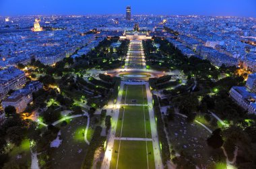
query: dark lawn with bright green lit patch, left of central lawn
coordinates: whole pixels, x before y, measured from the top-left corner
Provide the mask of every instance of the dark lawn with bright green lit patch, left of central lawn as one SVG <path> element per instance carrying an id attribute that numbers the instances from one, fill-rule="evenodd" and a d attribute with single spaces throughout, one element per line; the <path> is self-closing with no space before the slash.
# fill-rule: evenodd
<path id="1" fill-rule="evenodd" d="M 59 148 L 52 148 L 53 168 L 80 168 L 86 155 L 88 144 L 84 141 L 87 117 L 77 117 L 61 128 Z M 89 135 L 88 135 L 89 136 Z M 89 136 L 90 137 L 90 136 Z"/>

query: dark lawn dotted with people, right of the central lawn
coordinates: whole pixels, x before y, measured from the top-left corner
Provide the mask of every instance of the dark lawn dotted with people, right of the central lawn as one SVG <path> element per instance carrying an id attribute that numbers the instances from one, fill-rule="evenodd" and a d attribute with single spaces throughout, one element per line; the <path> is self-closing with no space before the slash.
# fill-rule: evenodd
<path id="1" fill-rule="evenodd" d="M 201 121 L 203 120 L 201 119 Z M 190 160 L 195 162 L 197 166 L 208 168 L 214 166 L 216 161 L 225 164 L 226 159 L 222 150 L 218 152 L 218 156 L 214 156 L 212 148 L 207 146 L 205 140 L 211 133 L 201 125 L 195 122 L 187 123 L 185 117 L 175 115 L 174 120 L 168 123 L 167 129 L 175 152 L 179 154 L 183 152 L 186 156 L 190 156 Z"/>

